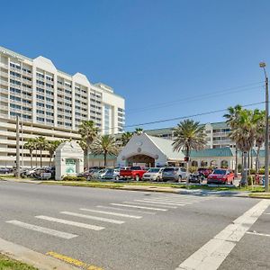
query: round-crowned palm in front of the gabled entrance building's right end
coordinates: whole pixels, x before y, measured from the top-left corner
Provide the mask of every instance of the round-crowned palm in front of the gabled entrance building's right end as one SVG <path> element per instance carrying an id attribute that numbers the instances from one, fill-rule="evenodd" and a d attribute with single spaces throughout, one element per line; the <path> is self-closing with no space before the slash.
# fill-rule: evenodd
<path id="1" fill-rule="evenodd" d="M 200 126 L 199 121 L 190 119 L 180 121 L 174 129 L 174 142 L 172 144 L 174 151 L 184 150 L 186 157 L 186 184 L 188 184 L 189 157 L 191 150 L 200 150 L 206 145 L 206 133 L 204 126 Z"/>

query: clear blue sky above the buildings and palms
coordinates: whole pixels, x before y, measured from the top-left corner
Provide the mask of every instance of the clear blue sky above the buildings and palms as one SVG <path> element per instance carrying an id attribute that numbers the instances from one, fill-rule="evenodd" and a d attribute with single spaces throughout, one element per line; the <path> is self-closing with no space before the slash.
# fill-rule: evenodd
<path id="1" fill-rule="evenodd" d="M 224 121 L 215 111 L 265 100 L 268 0 L 14 0 L 1 10 L 0 46 L 112 86 L 126 130 Z"/>

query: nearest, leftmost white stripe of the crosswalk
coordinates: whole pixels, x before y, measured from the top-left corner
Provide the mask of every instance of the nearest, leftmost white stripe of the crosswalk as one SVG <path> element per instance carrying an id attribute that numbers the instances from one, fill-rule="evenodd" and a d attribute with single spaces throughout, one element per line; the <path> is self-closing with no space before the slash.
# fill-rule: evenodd
<path id="1" fill-rule="evenodd" d="M 31 229 L 31 230 L 39 231 L 39 232 L 42 232 L 42 233 L 50 234 L 50 235 L 56 236 L 58 238 L 71 239 L 71 238 L 76 238 L 77 237 L 76 234 L 67 233 L 67 232 L 63 232 L 63 231 L 58 231 L 56 229 L 48 229 L 48 228 L 32 225 L 32 224 L 29 224 L 29 223 L 24 223 L 24 222 L 21 222 L 21 221 L 18 221 L 18 220 L 9 220 L 9 221 L 5 221 L 5 222 L 17 225 L 17 226 L 25 228 L 25 229 Z"/>

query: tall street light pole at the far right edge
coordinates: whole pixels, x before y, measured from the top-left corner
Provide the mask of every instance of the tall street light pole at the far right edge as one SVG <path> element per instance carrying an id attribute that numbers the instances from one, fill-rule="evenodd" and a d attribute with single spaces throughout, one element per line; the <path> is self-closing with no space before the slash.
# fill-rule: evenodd
<path id="1" fill-rule="evenodd" d="M 266 142 L 265 142 L 265 191 L 269 192 L 269 97 L 268 97 L 268 76 L 266 74 L 266 63 L 260 62 L 266 76 Z"/>

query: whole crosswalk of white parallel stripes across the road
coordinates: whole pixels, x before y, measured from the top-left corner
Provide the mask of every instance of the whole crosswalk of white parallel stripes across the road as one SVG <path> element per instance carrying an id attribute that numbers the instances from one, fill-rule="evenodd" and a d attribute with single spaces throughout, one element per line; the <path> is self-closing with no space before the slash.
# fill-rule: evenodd
<path id="1" fill-rule="evenodd" d="M 110 226 L 121 226 L 132 220 L 139 221 L 148 215 L 162 214 L 167 211 L 176 211 L 184 206 L 193 203 L 201 203 L 213 199 L 214 196 L 191 196 L 184 194 L 153 194 L 148 197 L 141 197 L 130 201 L 109 202 L 106 205 L 95 205 L 89 208 L 81 207 L 76 211 L 59 211 L 54 216 L 36 215 L 33 220 L 42 220 L 42 226 L 24 222 L 23 220 L 6 220 L 5 222 L 21 229 L 29 229 L 42 234 L 57 238 L 72 239 L 80 236 L 79 232 L 74 233 L 58 229 L 50 229 L 50 224 L 62 224 L 72 228 L 90 229 L 100 231 L 110 229 Z M 71 219 L 71 220 L 70 220 Z M 76 219 L 76 220 L 75 220 Z M 93 220 L 98 224 L 90 224 Z M 91 222 L 91 221 L 90 221 Z M 92 223 L 92 222 L 91 222 Z M 106 224 L 110 224 L 106 227 Z M 62 228 L 62 227 L 61 227 Z"/>

